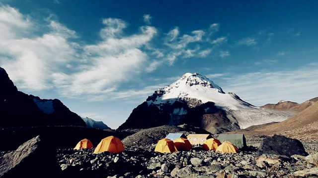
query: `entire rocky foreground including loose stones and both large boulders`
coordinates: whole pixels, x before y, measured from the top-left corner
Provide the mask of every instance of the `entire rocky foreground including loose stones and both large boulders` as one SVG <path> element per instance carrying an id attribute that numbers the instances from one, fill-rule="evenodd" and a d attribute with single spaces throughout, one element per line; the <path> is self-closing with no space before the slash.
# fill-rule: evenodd
<path id="1" fill-rule="evenodd" d="M 130 141 L 124 139 L 125 151 L 118 154 L 93 154 L 93 149 L 73 148 L 52 152 L 48 149 L 52 142 L 37 136 L 13 152 L 0 152 L 0 178 L 318 177 L 317 140 L 302 140 L 303 146 L 299 140 L 280 135 L 253 135 L 246 137 L 249 146 L 238 154 L 205 151 L 201 147 L 189 152 L 157 153 L 155 139 L 151 139 L 158 136 L 157 130 L 133 134 Z"/>

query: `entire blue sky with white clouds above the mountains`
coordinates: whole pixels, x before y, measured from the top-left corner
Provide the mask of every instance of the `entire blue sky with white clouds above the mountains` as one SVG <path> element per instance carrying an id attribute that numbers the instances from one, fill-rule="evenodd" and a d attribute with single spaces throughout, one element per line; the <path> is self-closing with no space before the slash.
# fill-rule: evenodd
<path id="1" fill-rule="evenodd" d="M 318 96 L 317 0 L 0 0 L 0 67 L 116 129 L 198 72 L 256 106 Z"/>

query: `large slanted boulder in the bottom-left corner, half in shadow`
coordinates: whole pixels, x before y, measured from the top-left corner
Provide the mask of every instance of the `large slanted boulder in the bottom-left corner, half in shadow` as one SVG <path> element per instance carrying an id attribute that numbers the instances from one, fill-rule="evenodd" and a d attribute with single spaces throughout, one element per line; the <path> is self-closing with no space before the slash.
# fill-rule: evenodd
<path id="1" fill-rule="evenodd" d="M 59 176 L 55 142 L 36 136 L 0 160 L 0 178 L 44 178 Z"/>

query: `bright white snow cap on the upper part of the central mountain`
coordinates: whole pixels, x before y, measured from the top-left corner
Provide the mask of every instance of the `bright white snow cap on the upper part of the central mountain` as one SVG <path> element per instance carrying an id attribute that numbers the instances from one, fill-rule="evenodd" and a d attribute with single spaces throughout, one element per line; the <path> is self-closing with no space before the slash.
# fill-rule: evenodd
<path id="1" fill-rule="evenodd" d="M 148 104 L 173 103 L 175 100 L 197 100 L 199 103 L 214 102 L 220 108 L 237 110 L 249 105 L 234 93 L 225 93 L 221 87 L 199 73 L 186 73 L 179 80 L 155 91 L 148 97 Z"/>

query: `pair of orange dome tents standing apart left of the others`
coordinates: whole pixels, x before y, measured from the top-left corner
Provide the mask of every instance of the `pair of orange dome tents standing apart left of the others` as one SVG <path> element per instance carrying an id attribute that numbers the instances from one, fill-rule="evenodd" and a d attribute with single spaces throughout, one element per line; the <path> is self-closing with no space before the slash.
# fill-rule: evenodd
<path id="1" fill-rule="evenodd" d="M 75 146 L 74 149 L 90 149 L 93 148 L 93 144 L 88 139 L 82 139 L 79 143 Z M 124 144 L 120 141 L 119 138 L 115 136 L 108 136 L 103 138 L 97 145 L 94 150 L 94 153 L 101 153 L 104 151 L 108 151 L 110 153 L 119 153 L 125 151 Z"/>

